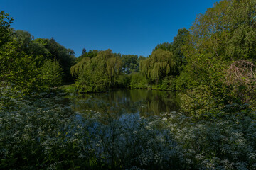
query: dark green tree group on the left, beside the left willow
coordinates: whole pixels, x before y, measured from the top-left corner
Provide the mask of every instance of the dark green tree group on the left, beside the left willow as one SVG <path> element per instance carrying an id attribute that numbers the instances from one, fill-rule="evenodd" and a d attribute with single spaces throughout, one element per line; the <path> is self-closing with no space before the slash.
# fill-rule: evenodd
<path id="1" fill-rule="evenodd" d="M 33 38 L 11 28 L 13 18 L 0 13 L 0 86 L 30 93 L 73 82 L 75 53 L 54 38 Z"/>

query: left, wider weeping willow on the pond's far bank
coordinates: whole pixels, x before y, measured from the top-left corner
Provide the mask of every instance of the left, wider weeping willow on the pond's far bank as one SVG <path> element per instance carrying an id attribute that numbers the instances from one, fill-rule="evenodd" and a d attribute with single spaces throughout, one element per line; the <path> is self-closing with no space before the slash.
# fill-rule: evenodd
<path id="1" fill-rule="evenodd" d="M 75 84 L 81 91 L 105 91 L 114 86 L 121 74 L 122 60 L 114 56 L 112 50 L 99 52 L 96 57 L 84 57 L 71 67 L 76 77 Z"/>

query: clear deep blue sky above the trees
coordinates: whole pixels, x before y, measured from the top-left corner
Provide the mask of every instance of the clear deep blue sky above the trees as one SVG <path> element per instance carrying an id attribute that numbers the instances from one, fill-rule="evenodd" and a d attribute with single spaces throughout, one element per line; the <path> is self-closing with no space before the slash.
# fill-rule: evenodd
<path id="1" fill-rule="evenodd" d="M 217 0 L 0 0 L 0 11 L 14 18 L 12 27 L 35 38 L 55 38 L 82 48 L 148 56 L 172 42 L 179 28 L 190 28 L 198 13 Z"/>

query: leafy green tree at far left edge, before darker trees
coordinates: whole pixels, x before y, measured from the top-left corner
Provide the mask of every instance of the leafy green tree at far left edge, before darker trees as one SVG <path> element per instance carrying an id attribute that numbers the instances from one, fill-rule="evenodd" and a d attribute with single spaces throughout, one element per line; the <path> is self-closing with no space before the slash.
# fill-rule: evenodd
<path id="1" fill-rule="evenodd" d="M 18 42 L 7 42 L 0 50 L 1 86 L 13 86 L 23 91 L 40 89 L 39 72 L 33 56 L 18 50 Z"/>

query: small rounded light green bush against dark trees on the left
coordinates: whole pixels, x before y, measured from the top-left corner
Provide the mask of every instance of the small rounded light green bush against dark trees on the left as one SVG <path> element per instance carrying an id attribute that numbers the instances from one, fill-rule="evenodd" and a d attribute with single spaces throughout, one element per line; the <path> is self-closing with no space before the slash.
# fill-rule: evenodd
<path id="1" fill-rule="evenodd" d="M 56 60 L 45 60 L 40 67 L 43 84 L 49 87 L 60 86 L 63 81 L 63 69 Z"/>

